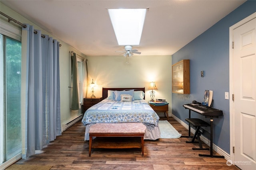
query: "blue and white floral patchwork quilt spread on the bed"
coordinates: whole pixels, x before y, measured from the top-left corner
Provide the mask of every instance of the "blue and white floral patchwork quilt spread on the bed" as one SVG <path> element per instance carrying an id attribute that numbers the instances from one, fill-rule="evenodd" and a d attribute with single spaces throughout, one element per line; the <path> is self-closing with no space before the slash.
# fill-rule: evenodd
<path id="1" fill-rule="evenodd" d="M 104 99 L 84 113 L 82 123 L 127 123 L 141 122 L 158 126 L 159 117 L 145 100 L 121 102 Z"/>

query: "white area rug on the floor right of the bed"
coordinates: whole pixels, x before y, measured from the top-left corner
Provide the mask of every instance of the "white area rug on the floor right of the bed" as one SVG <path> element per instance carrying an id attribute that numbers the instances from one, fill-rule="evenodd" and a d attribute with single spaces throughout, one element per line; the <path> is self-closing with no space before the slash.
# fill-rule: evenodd
<path id="1" fill-rule="evenodd" d="M 160 138 L 172 139 L 181 137 L 181 134 L 178 133 L 178 131 L 176 131 L 176 129 L 167 120 L 160 120 L 158 125 L 160 129 Z"/>

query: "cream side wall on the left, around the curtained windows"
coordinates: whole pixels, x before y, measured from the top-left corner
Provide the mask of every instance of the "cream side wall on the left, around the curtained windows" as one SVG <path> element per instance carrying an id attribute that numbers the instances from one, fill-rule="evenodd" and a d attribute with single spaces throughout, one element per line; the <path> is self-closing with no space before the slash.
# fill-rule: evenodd
<path id="1" fill-rule="evenodd" d="M 29 23 L 30 25 L 34 25 L 34 29 L 40 29 L 42 30 L 43 34 L 47 34 L 52 36 L 50 33 L 44 31 L 42 28 L 38 27 L 36 24 L 30 22 L 23 16 L 20 16 L 18 13 L 14 12 L 10 8 L 6 7 L 4 4 L 0 4 L 0 10 L 4 14 L 10 16 L 11 18 L 21 22 L 21 23 Z M 1 20 L 8 20 L 4 16 L 0 16 Z M 10 21 L 10 24 L 17 25 L 16 23 Z M 21 29 L 21 26 L 20 26 Z M 61 28 L 60 28 L 61 29 Z M 56 37 L 52 36 L 54 39 L 57 39 Z M 79 51 L 68 45 L 68 42 L 65 43 L 61 41 L 60 39 L 57 39 L 60 41 L 60 44 L 62 45 L 60 47 L 60 114 L 61 114 L 61 124 L 64 124 L 70 120 L 72 120 L 73 117 L 76 117 L 81 113 L 80 111 L 71 111 L 70 110 L 70 89 L 68 86 L 70 86 L 70 55 L 69 51 L 74 51 L 78 55 L 82 55 Z M 23 57 L 23 56 L 22 56 Z M 23 74 L 23 73 L 22 73 Z M 25 73 L 26 74 L 26 73 Z"/>

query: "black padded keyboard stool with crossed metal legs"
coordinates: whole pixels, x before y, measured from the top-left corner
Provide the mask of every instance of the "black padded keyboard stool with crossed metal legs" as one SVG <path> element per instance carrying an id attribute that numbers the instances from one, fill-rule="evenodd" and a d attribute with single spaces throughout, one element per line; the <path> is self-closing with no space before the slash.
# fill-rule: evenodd
<path id="1" fill-rule="evenodd" d="M 199 129 L 200 129 L 200 127 L 208 127 L 208 126 L 210 126 L 210 124 L 207 123 L 206 121 L 203 121 L 202 119 L 197 119 L 197 118 L 188 118 L 185 120 L 188 123 L 190 123 L 190 125 L 193 125 L 196 128 L 196 132 L 194 134 L 193 139 L 191 141 L 186 141 L 186 143 L 199 143 L 200 148 L 192 148 L 193 150 L 209 150 L 209 148 L 202 147 Z M 196 137 L 198 139 L 198 142 L 195 142 Z"/>

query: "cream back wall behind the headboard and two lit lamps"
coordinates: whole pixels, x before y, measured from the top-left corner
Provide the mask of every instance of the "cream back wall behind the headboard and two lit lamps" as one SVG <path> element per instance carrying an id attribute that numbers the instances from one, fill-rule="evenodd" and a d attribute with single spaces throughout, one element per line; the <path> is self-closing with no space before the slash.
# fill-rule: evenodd
<path id="1" fill-rule="evenodd" d="M 172 57 L 134 55 L 126 64 L 126 58 L 122 56 L 87 56 L 88 59 L 88 83 L 94 80 L 97 87 L 94 95 L 102 96 L 102 87 L 126 88 L 145 87 L 146 101 L 150 100 L 149 83 L 154 81 L 158 90 L 155 98 L 165 98 L 169 104 L 169 113 L 172 107 Z M 91 96 L 88 87 L 87 96 Z M 170 116 L 170 115 L 169 115 Z"/>

